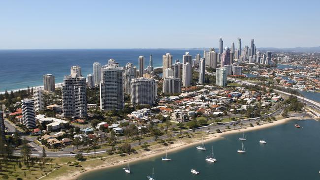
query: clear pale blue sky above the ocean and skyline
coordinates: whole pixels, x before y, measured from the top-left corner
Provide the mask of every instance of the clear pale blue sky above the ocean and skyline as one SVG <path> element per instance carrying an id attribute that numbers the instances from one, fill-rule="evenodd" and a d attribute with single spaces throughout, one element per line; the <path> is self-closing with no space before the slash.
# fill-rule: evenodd
<path id="1" fill-rule="evenodd" d="M 0 0 L 0 49 L 320 46 L 320 0 Z M 236 45 L 237 46 L 237 45 Z"/>

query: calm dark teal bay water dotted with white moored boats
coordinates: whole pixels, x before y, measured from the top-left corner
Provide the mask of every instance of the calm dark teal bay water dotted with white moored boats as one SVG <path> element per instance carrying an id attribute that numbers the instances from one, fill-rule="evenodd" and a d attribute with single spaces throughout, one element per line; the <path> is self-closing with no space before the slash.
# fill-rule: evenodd
<path id="1" fill-rule="evenodd" d="M 294 127 L 299 123 L 302 128 Z M 320 122 L 292 120 L 287 123 L 247 132 L 246 153 L 238 140 L 241 133 L 225 135 L 224 139 L 206 144 L 206 151 L 195 147 L 171 152 L 171 162 L 161 156 L 130 164 L 131 174 L 122 167 L 98 170 L 84 174 L 79 180 L 147 180 L 155 168 L 156 180 L 319 180 L 320 179 Z M 260 139 L 267 144 L 258 143 Z M 200 143 L 199 143 L 200 144 Z M 213 146 L 218 160 L 205 161 Z M 200 175 L 192 175 L 195 168 Z"/>

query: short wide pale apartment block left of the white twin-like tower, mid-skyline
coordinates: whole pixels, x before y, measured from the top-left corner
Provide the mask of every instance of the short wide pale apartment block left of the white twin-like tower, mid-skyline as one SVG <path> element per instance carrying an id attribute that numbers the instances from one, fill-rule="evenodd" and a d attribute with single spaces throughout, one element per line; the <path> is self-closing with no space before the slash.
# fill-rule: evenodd
<path id="1" fill-rule="evenodd" d="M 163 79 L 162 92 L 165 94 L 181 93 L 181 79 L 172 76 Z"/>

